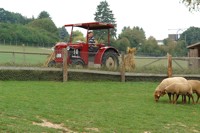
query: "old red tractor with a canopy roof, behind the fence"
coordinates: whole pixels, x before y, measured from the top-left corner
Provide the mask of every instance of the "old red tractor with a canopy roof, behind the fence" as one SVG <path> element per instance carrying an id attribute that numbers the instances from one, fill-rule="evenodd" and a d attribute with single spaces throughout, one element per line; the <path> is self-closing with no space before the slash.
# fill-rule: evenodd
<path id="1" fill-rule="evenodd" d="M 104 67 L 107 69 L 116 70 L 119 66 L 119 52 L 110 44 L 110 29 L 114 28 L 112 24 L 91 22 L 91 23 L 79 23 L 79 24 L 67 24 L 65 27 L 71 27 L 71 35 L 68 43 L 59 42 L 54 46 L 54 59 L 48 63 L 48 66 L 55 66 L 56 64 L 63 63 L 63 48 L 68 51 L 67 62 L 68 65 L 75 67 L 85 67 L 89 64 L 93 64 L 94 67 Z M 73 28 L 86 29 L 86 42 L 78 41 L 73 43 Z M 102 30 L 107 29 L 108 40 L 107 46 L 105 43 L 96 43 L 94 45 L 88 44 L 88 32 L 90 30 Z"/>

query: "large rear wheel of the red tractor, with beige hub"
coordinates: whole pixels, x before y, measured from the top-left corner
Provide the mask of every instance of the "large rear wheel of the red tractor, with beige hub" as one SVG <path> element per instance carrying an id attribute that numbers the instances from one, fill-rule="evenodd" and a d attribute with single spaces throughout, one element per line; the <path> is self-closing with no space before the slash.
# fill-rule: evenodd
<path id="1" fill-rule="evenodd" d="M 103 68 L 109 70 L 117 70 L 119 67 L 119 59 L 117 53 L 113 50 L 106 51 L 102 58 L 102 66 Z"/>

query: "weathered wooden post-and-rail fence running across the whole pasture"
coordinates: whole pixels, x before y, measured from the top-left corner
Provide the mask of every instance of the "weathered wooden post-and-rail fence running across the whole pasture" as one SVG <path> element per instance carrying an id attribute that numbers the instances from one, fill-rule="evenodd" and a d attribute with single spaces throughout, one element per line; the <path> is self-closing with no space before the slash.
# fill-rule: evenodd
<path id="1" fill-rule="evenodd" d="M 64 50 L 63 52 L 66 52 L 66 50 Z M 8 52 L 8 51 L 0 51 L 0 53 L 6 53 L 6 54 L 11 54 L 12 58 L 13 58 L 13 63 L 15 63 L 15 58 L 17 54 L 21 54 L 21 55 L 27 55 L 27 54 L 32 54 L 32 55 L 46 55 L 48 56 L 49 54 L 47 53 L 30 53 L 30 52 Z M 48 68 L 48 67 L 0 67 L 1 70 L 41 70 L 41 71 L 62 71 L 63 72 L 63 82 L 66 82 L 69 80 L 69 73 L 85 73 L 85 74 L 99 74 L 99 75 L 113 75 L 113 76 L 119 76 L 120 77 L 120 81 L 121 82 L 125 82 L 127 81 L 129 78 L 131 77 L 147 77 L 147 78 L 151 78 L 151 77 L 161 77 L 161 78 L 165 78 L 165 77 L 171 77 L 171 76 L 184 76 L 184 77 L 195 77 L 195 78 L 199 78 L 200 74 L 191 74 L 191 75 L 187 75 L 187 74 L 182 74 L 182 75 L 177 75 L 177 74 L 173 74 L 173 65 L 175 64 L 177 65 L 180 69 L 184 69 L 182 67 L 182 65 L 177 61 L 177 60 L 182 60 L 182 61 L 186 61 L 188 62 L 188 67 L 189 67 L 189 61 L 191 59 L 197 59 L 199 60 L 200 58 L 197 57 L 172 57 L 171 55 L 167 55 L 166 57 L 135 57 L 135 59 L 152 59 L 150 62 L 145 62 L 142 64 L 142 66 L 140 67 L 148 67 L 153 65 L 154 63 L 160 61 L 160 60 L 164 60 L 165 63 L 167 63 L 166 66 L 166 73 L 165 74 L 156 74 L 156 73 L 138 73 L 138 72 L 127 72 L 125 70 L 125 66 L 124 66 L 124 56 L 125 55 L 121 55 L 120 56 L 120 60 L 121 60 L 121 66 L 119 71 L 103 71 L 103 70 L 90 70 L 90 69 L 72 69 L 72 68 L 68 68 L 67 66 L 67 53 L 64 54 L 65 56 L 64 58 L 64 62 L 63 62 L 63 66 L 62 68 Z"/>

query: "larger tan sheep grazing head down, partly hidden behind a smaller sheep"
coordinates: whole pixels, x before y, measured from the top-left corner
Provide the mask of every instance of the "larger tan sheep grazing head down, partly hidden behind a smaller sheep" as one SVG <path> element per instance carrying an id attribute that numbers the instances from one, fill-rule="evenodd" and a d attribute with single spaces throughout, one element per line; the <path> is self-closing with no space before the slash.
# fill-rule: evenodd
<path id="1" fill-rule="evenodd" d="M 158 102 L 160 96 L 164 96 L 166 94 L 164 91 L 165 87 L 167 87 L 168 85 L 170 85 L 174 82 L 187 83 L 187 80 L 183 77 L 170 77 L 170 78 L 163 79 L 154 91 L 154 99 L 156 102 Z M 169 101 L 171 102 L 171 94 L 170 93 L 168 93 L 168 97 L 169 97 Z"/>

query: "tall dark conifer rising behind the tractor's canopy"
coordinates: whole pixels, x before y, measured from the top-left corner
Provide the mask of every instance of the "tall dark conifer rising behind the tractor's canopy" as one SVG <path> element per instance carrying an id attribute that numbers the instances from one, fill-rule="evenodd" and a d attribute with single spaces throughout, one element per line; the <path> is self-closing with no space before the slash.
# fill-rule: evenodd
<path id="1" fill-rule="evenodd" d="M 94 14 L 95 18 L 94 20 L 97 22 L 104 22 L 104 23 L 110 23 L 113 24 L 115 26 L 114 29 L 111 29 L 111 37 L 116 38 L 117 35 L 117 28 L 116 28 L 116 21 L 114 18 L 114 14 L 112 13 L 112 11 L 109 8 L 109 5 L 107 3 L 107 1 L 101 1 L 100 4 L 97 6 L 97 11 Z M 105 30 L 98 30 L 98 31 L 94 31 L 94 34 L 97 36 L 102 36 L 102 38 L 104 40 L 107 40 L 107 34 L 105 34 L 107 31 Z"/>

